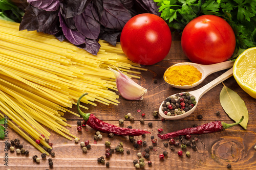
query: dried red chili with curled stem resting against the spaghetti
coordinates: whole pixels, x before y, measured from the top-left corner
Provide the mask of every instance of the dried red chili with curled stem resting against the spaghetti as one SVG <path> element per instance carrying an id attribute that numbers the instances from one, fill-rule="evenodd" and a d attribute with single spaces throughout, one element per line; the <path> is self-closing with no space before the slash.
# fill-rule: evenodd
<path id="1" fill-rule="evenodd" d="M 91 128 L 101 131 L 101 132 L 104 132 L 104 133 L 114 133 L 116 135 L 123 135 L 123 136 L 126 136 L 126 135 L 139 136 L 139 135 L 143 135 L 145 133 L 150 133 L 150 132 L 140 130 L 140 129 L 120 128 L 115 125 L 103 122 L 102 120 L 95 117 L 95 115 L 92 113 L 83 113 L 79 108 L 79 103 L 80 103 L 80 100 L 82 99 L 82 97 L 87 94 L 88 93 L 82 94 L 80 96 L 80 98 L 78 99 L 77 110 L 80 113 L 80 115 L 83 117 L 86 124 L 88 126 L 90 126 Z"/>

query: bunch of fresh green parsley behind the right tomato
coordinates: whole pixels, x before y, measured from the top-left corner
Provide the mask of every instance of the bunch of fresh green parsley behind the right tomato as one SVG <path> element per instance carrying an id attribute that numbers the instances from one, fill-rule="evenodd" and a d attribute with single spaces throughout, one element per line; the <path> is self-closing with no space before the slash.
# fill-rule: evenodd
<path id="1" fill-rule="evenodd" d="M 233 59 L 256 45 L 256 0 L 154 0 L 169 27 L 182 32 L 189 21 L 200 15 L 217 15 L 233 28 L 237 45 Z"/>

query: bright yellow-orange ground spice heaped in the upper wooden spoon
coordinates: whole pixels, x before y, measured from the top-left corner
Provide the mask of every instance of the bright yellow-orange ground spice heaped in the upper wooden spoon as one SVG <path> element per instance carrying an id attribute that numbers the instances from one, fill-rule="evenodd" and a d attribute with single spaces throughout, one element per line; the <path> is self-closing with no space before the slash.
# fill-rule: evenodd
<path id="1" fill-rule="evenodd" d="M 192 85 L 202 78 L 202 73 L 191 65 L 177 65 L 168 68 L 164 80 L 176 86 Z"/>

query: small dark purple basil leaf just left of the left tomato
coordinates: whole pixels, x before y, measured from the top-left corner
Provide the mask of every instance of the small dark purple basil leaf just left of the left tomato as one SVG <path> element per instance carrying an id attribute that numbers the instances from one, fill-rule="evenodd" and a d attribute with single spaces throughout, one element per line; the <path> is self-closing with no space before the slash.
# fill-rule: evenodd
<path id="1" fill-rule="evenodd" d="M 116 46 L 117 37 L 120 34 L 121 34 L 121 31 L 101 27 L 99 38 L 105 41 L 108 41 L 112 45 Z"/>

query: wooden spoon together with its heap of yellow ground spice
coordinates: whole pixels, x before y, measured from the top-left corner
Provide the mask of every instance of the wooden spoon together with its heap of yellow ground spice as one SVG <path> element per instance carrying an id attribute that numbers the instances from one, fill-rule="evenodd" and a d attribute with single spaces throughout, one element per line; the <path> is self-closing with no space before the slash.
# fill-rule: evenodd
<path id="1" fill-rule="evenodd" d="M 169 85 L 180 88 L 180 89 L 188 89 L 198 86 L 200 83 L 204 81 L 204 79 L 209 76 L 210 74 L 231 68 L 233 66 L 233 61 L 225 61 L 217 64 L 210 64 L 210 65 L 202 65 L 192 62 L 183 62 L 183 63 L 177 63 L 172 66 L 170 66 L 166 71 L 164 72 L 164 80 Z M 188 67 L 189 66 L 189 67 Z M 186 68 L 186 69 L 184 69 Z M 191 75 L 191 69 L 196 70 L 201 76 L 199 75 Z M 186 71 L 187 70 L 187 71 Z M 172 76 L 169 76 L 168 73 L 173 71 L 171 74 Z M 176 79 L 174 79 L 174 77 Z"/>

